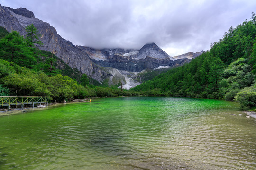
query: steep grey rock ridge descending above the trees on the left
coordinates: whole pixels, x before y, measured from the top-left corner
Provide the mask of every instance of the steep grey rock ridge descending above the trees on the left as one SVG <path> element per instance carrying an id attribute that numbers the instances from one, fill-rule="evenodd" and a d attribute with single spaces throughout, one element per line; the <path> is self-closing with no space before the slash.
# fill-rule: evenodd
<path id="1" fill-rule="evenodd" d="M 40 49 L 54 53 L 71 68 L 78 68 L 95 80 L 102 81 L 108 77 L 108 73 L 95 65 L 87 53 L 62 38 L 50 24 L 35 18 L 33 12 L 26 8 L 12 9 L 0 5 L 0 26 L 9 32 L 15 30 L 24 36 L 25 27 L 30 24 L 34 24 L 41 34 L 40 40 L 44 45 Z"/>

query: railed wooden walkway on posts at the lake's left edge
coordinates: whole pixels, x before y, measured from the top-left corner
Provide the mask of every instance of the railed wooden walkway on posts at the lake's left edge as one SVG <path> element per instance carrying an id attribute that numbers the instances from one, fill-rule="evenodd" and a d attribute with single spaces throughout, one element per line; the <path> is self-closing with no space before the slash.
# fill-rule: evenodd
<path id="1" fill-rule="evenodd" d="M 0 106 L 8 106 L 8 111 L 10 110 L 10 106 L 21 105 L 23 109 L 24 104 L 32 104 L 34 108 L 34 104 L 42 104 L 47 103 L 48 105 L 48 96 L 0 96 Z"/>

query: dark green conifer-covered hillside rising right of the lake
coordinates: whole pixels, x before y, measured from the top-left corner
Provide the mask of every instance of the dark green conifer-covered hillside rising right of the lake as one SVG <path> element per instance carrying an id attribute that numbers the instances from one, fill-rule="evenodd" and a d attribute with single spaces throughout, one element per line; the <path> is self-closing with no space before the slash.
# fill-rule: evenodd
<path id="1" fill-rule="evenodd" d="M 237 100 L 256 105 L 256 16 L 230 27 L 219 42 L 190 63 L 156 76 L 132 90 L 146 95 Z"/>

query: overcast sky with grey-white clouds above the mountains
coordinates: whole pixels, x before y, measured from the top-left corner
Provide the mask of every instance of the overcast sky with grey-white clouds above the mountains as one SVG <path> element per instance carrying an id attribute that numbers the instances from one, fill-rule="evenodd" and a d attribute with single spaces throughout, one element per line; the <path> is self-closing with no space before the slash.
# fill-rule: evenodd
<path id="1" fill-rule="evenodd" d="M 133 48 L 155 42 L 170 56 L 208 50 L 250 20 L 256 0 L 0 0 L 27 8 L 75 45 Z"/>

